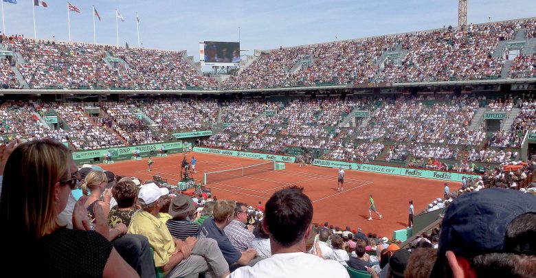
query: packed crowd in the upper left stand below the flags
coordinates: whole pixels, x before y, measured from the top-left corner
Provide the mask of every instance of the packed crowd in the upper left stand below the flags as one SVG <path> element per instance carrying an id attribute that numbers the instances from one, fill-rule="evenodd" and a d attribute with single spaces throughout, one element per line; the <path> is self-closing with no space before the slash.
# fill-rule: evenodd
<path id="1" fill-rule="evenodd" d="M 3 44 L 25 60 L 17 67 L 31 89 L 218 89 L 216 80 L 197 73 L 176 51 L 34 40 L 23 36 L 6 37 Z M 115 62 L 118 58 L 126 64 Z M 8 69 L 5 71 L 10 74 Z M 10 84 L 13 82 L 16 79 Z"/>

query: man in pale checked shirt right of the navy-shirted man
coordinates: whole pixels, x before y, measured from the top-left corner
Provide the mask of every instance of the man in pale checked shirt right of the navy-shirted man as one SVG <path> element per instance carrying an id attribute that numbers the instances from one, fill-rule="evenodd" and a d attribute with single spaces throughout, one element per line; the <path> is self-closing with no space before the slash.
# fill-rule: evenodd
<path id="1" fill-rule="evenodd" d="M 236 202 L 234 219 L 223 229 L 231 244 L 239 251 L 245 251 L 252 246 L 255 238 L 253 226 L 247 225 L 247 209 L 242 202 Z"/>

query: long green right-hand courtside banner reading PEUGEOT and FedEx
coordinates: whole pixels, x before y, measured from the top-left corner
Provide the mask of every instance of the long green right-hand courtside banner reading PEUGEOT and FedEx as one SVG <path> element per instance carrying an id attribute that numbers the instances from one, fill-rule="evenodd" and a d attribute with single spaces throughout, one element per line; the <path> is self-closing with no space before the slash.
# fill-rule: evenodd
<path id="1" fill-rule="evenodd" d="M 342 167 L 344 169 L 364 171 L 364 172 L 374 172 L 380 174 L 392 174 L 398 176 L 412 176 L 415 178 L 433 178 L 436 180 L 444 181 L 462 181 L 462 178 L 477 178 L 479 175 L 474 174 L 460 174 L 460 173 L 451 173 L 451 172 L 440 172 L 440 171 L 431 171 L 431 170 L 421 170 L 421 169 L 408 169 L 402 167 L 389 167 L 382 165 L 372 165 L 372 164 L 362 164 L 362 163 L 352 163 L 345 161 L 331 161 L 323 159 L 315 159 L 313 165 L 323 166 L 323 167 L 333 167 L 338 168 Z"/>

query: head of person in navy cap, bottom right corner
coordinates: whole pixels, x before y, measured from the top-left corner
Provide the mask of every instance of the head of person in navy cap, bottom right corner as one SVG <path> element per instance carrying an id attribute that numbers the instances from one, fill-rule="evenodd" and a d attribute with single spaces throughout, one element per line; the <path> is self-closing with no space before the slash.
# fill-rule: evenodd
<path id="1" fill-rule="evenodd" d="M 491 188 L 463 194 L 443 218 L 430 277 L 536 277 L 536 198 Z"/>

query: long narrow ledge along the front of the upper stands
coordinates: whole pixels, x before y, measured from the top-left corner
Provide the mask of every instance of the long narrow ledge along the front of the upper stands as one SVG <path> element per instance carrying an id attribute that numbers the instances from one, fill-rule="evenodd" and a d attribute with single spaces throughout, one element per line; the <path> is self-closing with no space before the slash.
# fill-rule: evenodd
<path id="1" fill-rule="evenodd" d="M 493 80 L 462 80 L 462 81 L 438 81 L 438 82 L 407 82 L 392 83 L 393 88 L 414 87 L 414 86 L 462 86 L 462 85 L 486 85 L 486 84 L 528 84 L 536 83 L 536 78 L 513 78 L 513 79 L 493 79 Z M 317 91 L 329 89 L 372 89 L 372 88 L 390 88 L 391 86 L 309 86 L 309 87 L 289 87 L 289 88 L 271 88 L 271 89 L 246 89 L 246 90 L 213 90 L 213 91 L 188 91 L 188 90 L 69 90 L 69 89 L 2 89 L 0 95 L 55 95 L 55 94 L 188 94 L 188 95 L 220 95 L 225 93 L 269 93 L 282 91 Z"/>

